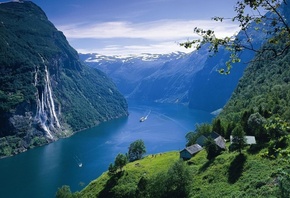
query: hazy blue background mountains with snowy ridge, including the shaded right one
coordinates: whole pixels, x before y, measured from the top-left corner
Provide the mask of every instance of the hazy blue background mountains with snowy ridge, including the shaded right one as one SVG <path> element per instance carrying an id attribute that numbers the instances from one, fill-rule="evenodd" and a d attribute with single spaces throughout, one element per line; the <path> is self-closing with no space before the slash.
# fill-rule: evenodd
<path id="1" fill-rule="evenodd" d="M 270 15 L 269 13 L 267 15 Z M 265 17 L 271 18 L 270 16 Z M 271 30 L 268 21 L 252 23 L 247 34 L 241 31 L 237 40 L 259 49 Z M 223 47 L 212 54 L 208 46 L 190 54 L 143 54 L 140 56 L 103 56 L 100 54 L 80 54 L 89 66 L 98 68 L 113 79 L 119 90 L 128 99 L 160 103 L 183 103 L 190 108 L 213 112 L 221 109 L 230 99 L 244 69 L 255 52 L 244 50 L 239 54 L 241 62 L 233 64 L 230 75 L 221 75 L 231 53 Z"/>

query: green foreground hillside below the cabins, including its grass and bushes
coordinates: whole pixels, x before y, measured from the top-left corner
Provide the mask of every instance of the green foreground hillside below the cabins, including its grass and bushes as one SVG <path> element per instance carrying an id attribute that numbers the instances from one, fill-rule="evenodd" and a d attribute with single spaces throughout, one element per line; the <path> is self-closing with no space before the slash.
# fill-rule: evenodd
<path id="1" fill-rule="evenodd" d="M 212 161 L 206 159 L 205 150 L 189 161 L 180 161 L 177 151 L 149 155 L 127 164 L 115 175 L 103 173 L 81 192 L 70 196 L 279 197 L 279 184 L 284 176 L 281 170 L 289 170 L 289 161 L 282 156 L 275 160 L 265 158 L 265 151 L 250 147 L 242 154 L 224 151 Z M 61 190 L 68 195 L 65 189 L 68 190 L 66 187 Z"/>

